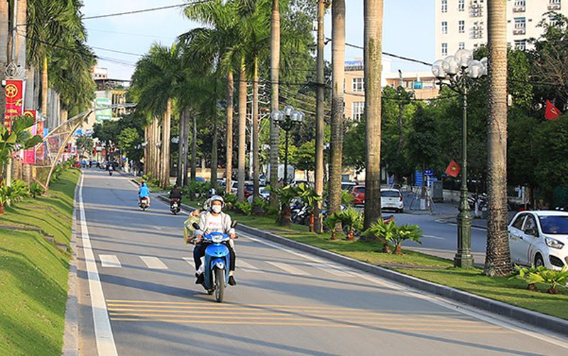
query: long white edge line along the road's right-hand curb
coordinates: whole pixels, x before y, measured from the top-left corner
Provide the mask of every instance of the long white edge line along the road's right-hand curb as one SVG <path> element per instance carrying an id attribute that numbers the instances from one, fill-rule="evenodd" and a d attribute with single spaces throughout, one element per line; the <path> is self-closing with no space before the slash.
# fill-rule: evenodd
<path id="1" fill-rule="evenodd" d="M 287 247 L 275 245 L 273 243 L 268 243 L 268 242 L 266 242 L 264 240 L 260 240 L 258 238 L 253 238 L 253 237 L 251 237 L 251 235 L 248 235 L 248 234 L 239 233 L 239 235 L 244 236 L 246 238 L 249 238 L 249 240 L 253 240 L 257 243 L 261 243 L 263 245 L 271 246 L 271 247 L 274 247 L 278 250 L 288 252 L 291 255 L 303 257 L 303 258 L 310 260 L 310 261 L 320 262 L 320 263 L 332 263 L 333 265 L 337 266 L 338 268 L 339 267 L 342 267 L 344 269 L 346 268 L 345 271 L 347 273 L 353 275 L 354 277 L 366 279 L 367 281 L 373 282 L 374 284 L 378 284 L 381 287 L 387 287 L 389 289 L 393 289 L 395 291 L 400 291 L 402 293 L 412 294 L 416 298 L 420 298 L 420 299 L 424 299 L 426 301 L 430 301 L 433 304 L 437 304 L 438 306 L 442 306 L 443 308 L 447 308 L 451 311 L 454 311 L 454 312 L 457 312 L 457 313 L 462 313 L 466 316 L 471 316 L 472 318 L 476 318 L 476 319 L 479 319 L 481 321 L 485 321 L 486 323 L 490 323 L 490 324 L 493 324 L 493 325 L 496 325 L 496 326 L 501 326 L 501 328 L 513 330 L 517 333 L 528 335 L 532 338 L 536 338 L 538 340 L 545 341 L 546 343 L 551 343 L 552 345 L 557 345 L 559 347 L 563 347 L 565 349 L 568 349 L 568 343 L 565 343 L 564 341 L 562 341 L 559 338 L 547 336 L 547 334 L 551 333 L 548 330 L 545 330 L 545 329 L 542 329 L 542 328 L 537 328 L 537 327 L 531 327 L 531 326 L 525 326 L 525 328 L 521 328 L 521 327 L 518 327 L 515 324 L 513 324 L 515 321 L 510 321 L 510 319 L 508 319 L 508 318 L 505 318 L 503 316 L 499 316 L 497 314 L 489 313 L 488 311 L 476 309 L 476 308 L 467 306 L 466 304 L 460 304 L 458 302 L 450 301 L 449 299 L 443 299 L 440 296 L 435 296 L 435 295 L 432 295 L 432 294 L 426 294 L 426 292 L 419 291 L 417 289 L 411 289 L 410 287 L 404 286 L 403 284 L 395 284 L 395 283 L 391 283 L 391 282 L 386 282 L 386 280 L 378 279 L 378 277 L 371 277 L 372 276 L 371 274 L 367 274 L 366 272 L 359 271 L 358 269 L 353 269 L 353 268 L 350 268 L 350 267 L 344 267 L 343 265 L 338 264 L 336 262 L 328 262 L 327 260 L 323 260 L 323 259 L 320 259 L 320 258 L 308 256 L 308 255 L 304 255 L 302 253 L 290 250 Z M 349 257 L 347 257 L 347 258 L 349 258 Z M 537 331 L 532 331 L 529 328 L 532 328 L 532 330 L 537 330 Z"/>

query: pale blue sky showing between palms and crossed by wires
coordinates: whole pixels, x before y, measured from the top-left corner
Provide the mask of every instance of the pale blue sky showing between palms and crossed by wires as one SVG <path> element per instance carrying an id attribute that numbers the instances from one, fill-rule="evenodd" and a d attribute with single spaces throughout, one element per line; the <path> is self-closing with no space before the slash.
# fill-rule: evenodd
<path id="1" fill-rule="evenodd" d="M 314 0 L 315 1 L 315 0 Z M 85 17 L 106 13 L 132 11 L 182 3 L 182 0 L 84 0 Z M 434 0 L 385 0 L 383 50 L 386 52 L 433 61 L 435 57 Z M 85 20 L 89 45 L 96 47 L 99 62 L 113 78 L 129 79 L 138 60 L 126 55 L 97 48 L 107 48 L 136 54 L 145 53 L 154 42 L 170 45 L 175 37 L 199 26 L 187 21 L 180 9 L 167 9 L 127 16 Z M 327 14 L 326 33 L 331 37 L 331 14 Z M 363 43 L 363 0 L 346 0 L 346 42 Z M 346 48 L 346 60 L 363 56 L 362 50 Z M 326 48 L 331 59 L 331 45 Z M 393 59 L 393 71 L 427 71 L 428 67 Z"/>

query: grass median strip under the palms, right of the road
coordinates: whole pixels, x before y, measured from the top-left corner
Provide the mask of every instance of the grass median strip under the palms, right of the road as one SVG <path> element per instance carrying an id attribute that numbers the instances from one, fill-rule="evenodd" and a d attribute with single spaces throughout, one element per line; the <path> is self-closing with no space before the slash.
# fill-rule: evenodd
<path id="1" fill-rule="evenodd" d="M 197 206 L 195 201 L 187 201 L 187 204 Z M 293 225 L 284 228 L 278 226 L 274 218 L 244 216 L 234 212 L 231 212 L 231 216 L 244 225 L 269 231 L 300 243 L 320 247 L 356 260 L 394 269 L 490 299 L 568 319 L 568 291 L 566 289 L 559 291 L 557 295 L 529 291 L 522 281 L 508 280 L 506 277 L 486 277 L 481 268 L 454 268 L 452 260 L 410 250 L 403 250 L 402 256 L 385 254 L 378 252 L 382 248 L 381 243 L 330 240 L 329 233 L 322 235 L 310 233 L 307 226 Z M 545 291 L 547 287 L 542 285 L 539 289 Z"/>

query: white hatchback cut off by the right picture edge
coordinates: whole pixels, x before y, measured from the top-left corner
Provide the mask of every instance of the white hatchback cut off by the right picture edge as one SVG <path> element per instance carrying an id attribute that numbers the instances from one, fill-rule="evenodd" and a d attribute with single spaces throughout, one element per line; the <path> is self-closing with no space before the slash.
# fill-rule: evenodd
<path id="1" fill-rule="evenodd" d="M 568 212 L 522 211 L 510 222 L 508 232 L 513 263 L 548 269 L 568 264 Z"/>

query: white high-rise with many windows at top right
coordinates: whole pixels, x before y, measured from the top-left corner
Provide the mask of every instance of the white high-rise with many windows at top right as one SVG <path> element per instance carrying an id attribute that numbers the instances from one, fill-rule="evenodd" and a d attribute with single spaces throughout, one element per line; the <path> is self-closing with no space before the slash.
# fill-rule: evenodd
<path id="1" fill-rule="evenodd" d="M 461 48 L 474 50 L 487 43 L 487 0 L 435 0 L 436 57 Z M 525 50 L 538 38 L 542 15 L 556 11 L 568 16 L 568 0 L 508 0 L 507 40 L 511 48 Z"/>

